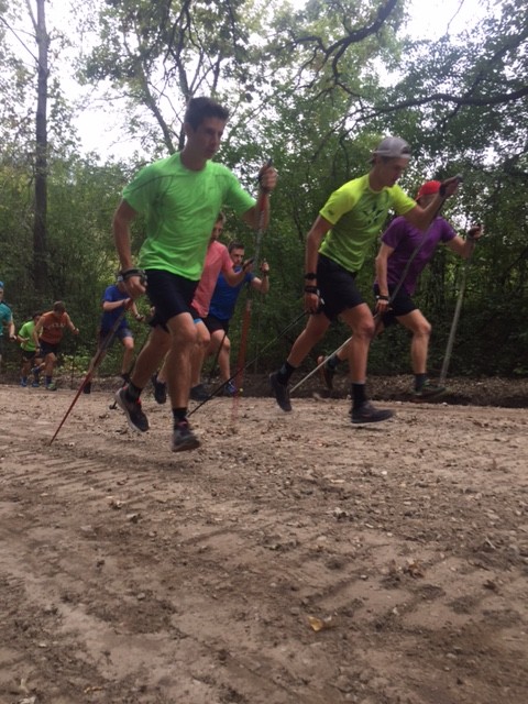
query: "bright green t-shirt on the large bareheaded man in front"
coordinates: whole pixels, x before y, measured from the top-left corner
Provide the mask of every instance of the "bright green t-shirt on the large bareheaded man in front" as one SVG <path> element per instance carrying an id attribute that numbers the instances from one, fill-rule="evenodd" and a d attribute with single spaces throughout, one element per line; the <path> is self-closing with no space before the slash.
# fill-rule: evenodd
<path id="1" fill-rule="evenodd" d="M 229 168 L 208 161 L 199 172 L 182 164 L 179 153 L 150 164 L 123 190 L 123 199 L 146 218 L 139 264 L 198 280 L 211 230 L 222 208 L 237 215 L 255 200 Z"/>

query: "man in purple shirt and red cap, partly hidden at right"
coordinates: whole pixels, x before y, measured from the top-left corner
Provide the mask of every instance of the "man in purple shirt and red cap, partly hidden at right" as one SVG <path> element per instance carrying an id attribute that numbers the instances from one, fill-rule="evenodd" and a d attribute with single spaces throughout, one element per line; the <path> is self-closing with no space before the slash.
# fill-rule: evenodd
<path id="1" fill-rule="evenodd" d="M 427 208 L 440 189 L 440 182 L 425 183 L 416 197 L 417 202 Z M 437 217 L 427 232 L 418 230 L 405 218 L 395 218 L 382 237 L 382 245 L 376 256 L 376 312 L 380 320 L 376 333 L 380 334 L 395 321 L 400 322 L 413 333 L 410 358 L 415 385 L 413 396 L 416 400 L 425 400 L 442 394 L 442 386 L 432 384 L 427 375 L 427 356 L 431 323 L 418 309 L 411 296 L 415 293 L 418 277 L 431 261 L 437 245 L 447 244 L 450 250 L 468 258 L 473 251 L 474 240 L 482 235 L 481 226 L 474 226 L 468 238 L 460 238 L 443 218 Z M 396 295 L 394 293 L 396 292 Z M 393 298 L 394 296 L 394 298 Z M 337 365 L 348 359 L 346 345 L 330 355 L 322 367 L 322 375 L 329 388 L 332 388 Z M 322 362 L 319 358 L 318 363 Z"/>

